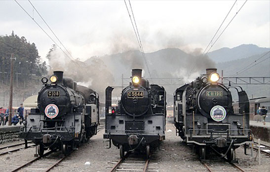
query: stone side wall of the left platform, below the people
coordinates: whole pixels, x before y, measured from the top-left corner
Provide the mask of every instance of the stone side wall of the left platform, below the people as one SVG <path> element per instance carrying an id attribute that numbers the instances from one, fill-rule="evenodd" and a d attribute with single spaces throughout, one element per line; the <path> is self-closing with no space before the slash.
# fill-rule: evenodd
<path id="1" fill-rule="evenodd" d="M 20 127 L 22 126 L 4 126 L 0 127 L 0 144 L 10 143 L 21 140 L 19 138 Z"/>

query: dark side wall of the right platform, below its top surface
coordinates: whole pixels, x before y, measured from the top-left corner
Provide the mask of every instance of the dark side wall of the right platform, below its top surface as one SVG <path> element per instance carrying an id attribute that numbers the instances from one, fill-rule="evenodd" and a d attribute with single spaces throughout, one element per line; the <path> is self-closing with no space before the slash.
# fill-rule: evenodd
<path id="1" fill-rule="evenodd" d="M 260 126 L 250 126 L 254 138 L 270 142 L 270 128 Z"/>

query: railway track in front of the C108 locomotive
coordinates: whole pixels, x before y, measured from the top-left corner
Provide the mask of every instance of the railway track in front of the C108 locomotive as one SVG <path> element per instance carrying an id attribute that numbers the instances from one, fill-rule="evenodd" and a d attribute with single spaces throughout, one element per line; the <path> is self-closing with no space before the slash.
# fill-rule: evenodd
<path id="1" fill-rule="evenodd" d="M 42 157 L 28 161 L 11 172 L 26 171 L 26 172 L 49 172 L 52 168 L 57 166 L 61 161 L 63 161 L 67 156 L 62 156 L 59 153 L 53 155 L 54 151 L 46 152 Z"/>

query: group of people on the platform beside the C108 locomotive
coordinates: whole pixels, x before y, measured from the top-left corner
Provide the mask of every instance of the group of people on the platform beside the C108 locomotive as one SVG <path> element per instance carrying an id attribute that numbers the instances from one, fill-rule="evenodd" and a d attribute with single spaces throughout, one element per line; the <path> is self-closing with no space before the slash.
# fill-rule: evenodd
<path id="1" fill-rule="evenodd" d="M 6 124 L 6 122 L 8 121 L 8 117 L 9 117 L 9 107 L 4 113 L 0 113 L 0 126 Z M 14 115 L 11 118 L 11 124 L 17 125 L 19 122 L 21 124 L 23 120 L 24 120 L 24 107 L 23 104 L 21 104 L 21 106 L 17 110 L 16 115 Z"/>

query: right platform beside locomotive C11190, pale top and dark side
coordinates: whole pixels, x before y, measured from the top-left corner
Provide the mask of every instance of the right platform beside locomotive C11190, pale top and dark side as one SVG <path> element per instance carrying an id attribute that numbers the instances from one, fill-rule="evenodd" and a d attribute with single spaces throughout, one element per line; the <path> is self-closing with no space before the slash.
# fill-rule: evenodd
<path id="1" fill-rule="evenodd" d="M 261 139 L 262 141 L 270 143 L 270 122 L 250 121 L 250 129 L 255 139 Z"/>

